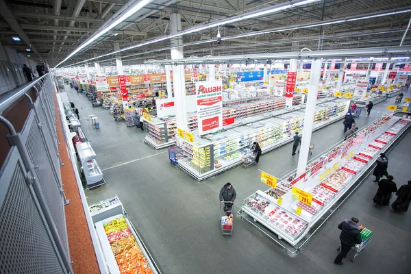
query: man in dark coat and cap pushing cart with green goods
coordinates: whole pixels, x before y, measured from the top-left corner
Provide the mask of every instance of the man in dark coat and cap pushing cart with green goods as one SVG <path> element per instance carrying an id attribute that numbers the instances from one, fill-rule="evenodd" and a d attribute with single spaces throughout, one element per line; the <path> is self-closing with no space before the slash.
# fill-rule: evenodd
<path id="1" fill-rule="evenodd" d="M 343 259 L 356 244 L 361 243 L 360 227 L 358 227 L 358 219 L 352 217 L 351 220 L 345 220 L 338 225 L 341 230 L 340 241 L 341 251 L 334 260 L 334 264 L 344 264 Z"/>

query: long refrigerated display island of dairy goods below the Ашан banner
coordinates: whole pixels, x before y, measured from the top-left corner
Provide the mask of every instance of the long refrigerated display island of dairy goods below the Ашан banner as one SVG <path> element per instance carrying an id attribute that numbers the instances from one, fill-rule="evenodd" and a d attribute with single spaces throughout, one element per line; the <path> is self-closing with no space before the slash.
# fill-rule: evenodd
<path id="1" fill-rule="evenodd" d="M 321 103 L 316 107 L 318 110 L 316 110 L 316 123 L 313 130 L 343 119 L 348 106 L 349 101 L 345 99 L 334 99 Z M 303 132 L 301 127 L 303 126 L 305 113 L 303 109 L 285 114 L 282 114 L 281 111 L 277 110 L 279 113 L 277 115 L 273 114 L 274 118 L 267 117 L 264 121 L 247 124 L 247 127 L 227 129 L 227 131 L 214 136 L 212 142 L 205 138 L 199 138 L 197 132 L 192 132 L 195 137 L 194 142 L 188 142 L 188 140 L 176 136 L 177 146 L 183 150 L 183 153 L 180 153 L 177 157 L 177 164 L 192 177 L 201 180 L 242 163 L 242 158 L 251 156 L 250 147 L 255 141 L 259 142 L 262 153 L 291 142 L 292 134 L 295 131 Z M 187 150 L 185 147 L 192 148 L 193 156 L 195 149 L 210 147 L 210 156 L 212 157 L 209 158 L 206 155 L 206 157 L 195 159 L 190 153 L 185 152 Z M 208 164 L 209 161 L 210 164 Z M 195 162 L 195 164 L 192 162 Z M 207 164 L 208 166 L 206 166 Z M 199 168 L 193 168 L 193 165 L 199 166 Z"/>

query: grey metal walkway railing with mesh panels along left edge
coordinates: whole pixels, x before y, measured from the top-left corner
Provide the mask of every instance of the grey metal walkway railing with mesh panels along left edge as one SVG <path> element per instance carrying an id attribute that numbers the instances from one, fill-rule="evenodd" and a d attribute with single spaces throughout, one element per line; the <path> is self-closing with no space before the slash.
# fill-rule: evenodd
<path id="1" fill-rule="evenodd" d="M 53 93 L 47 73 L 0 97 L 1 150 L 9 146 L 0 169 L 2 273 L 73 273 Z M 27 105 L 17 125 L 10 110 Z"/>

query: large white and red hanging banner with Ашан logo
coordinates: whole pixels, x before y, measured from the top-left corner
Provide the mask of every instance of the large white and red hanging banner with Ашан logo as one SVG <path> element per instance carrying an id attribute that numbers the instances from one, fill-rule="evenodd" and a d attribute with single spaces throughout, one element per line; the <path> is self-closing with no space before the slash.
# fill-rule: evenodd
<path id="1" fill-rule="evenodd" d="M 199 136 L 223 128 L 222 80 L 195 83 Z"/>

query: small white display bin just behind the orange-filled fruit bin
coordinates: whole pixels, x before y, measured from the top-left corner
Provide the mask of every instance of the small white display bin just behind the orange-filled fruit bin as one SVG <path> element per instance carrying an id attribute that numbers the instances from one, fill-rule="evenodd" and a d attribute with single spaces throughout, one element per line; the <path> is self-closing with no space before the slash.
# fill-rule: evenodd
<path id="1" fill-rule="evenodd" d="M 125 213 L 123 204 L 117 195 L 109 199 L 99 201 L 98 203 L 92 203 L 88 206 L 88 211 L 90 212 L 93 223 L 103 221 L 104 219 L 110 218 L 114 215 Z"/>

